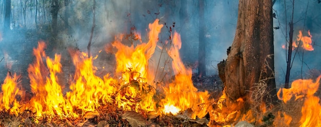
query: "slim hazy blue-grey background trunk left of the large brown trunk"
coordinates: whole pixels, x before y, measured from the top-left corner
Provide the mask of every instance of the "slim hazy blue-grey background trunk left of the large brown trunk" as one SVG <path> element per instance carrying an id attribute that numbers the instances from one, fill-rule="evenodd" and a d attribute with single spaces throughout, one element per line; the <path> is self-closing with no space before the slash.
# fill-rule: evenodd
<path id="1" fill-rule="evenodd" d="M 204 6 L 205 1 L 199 1 L 199 30 L 198 30 L 198 75 L 206 76 L 206 40 L 205 40 L 205 18 Z"/>

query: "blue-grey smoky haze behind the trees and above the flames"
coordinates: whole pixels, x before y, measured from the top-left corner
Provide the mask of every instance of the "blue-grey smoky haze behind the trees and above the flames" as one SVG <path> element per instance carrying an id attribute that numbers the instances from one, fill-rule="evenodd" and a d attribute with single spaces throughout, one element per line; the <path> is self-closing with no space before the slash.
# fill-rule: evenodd
<path id="1" fill-rule="evenodd" d="M 4 24 L 4 2 L 4 0 L 0 0 L 0 34 L 2 34 Z M 57 40 L 60 42 L 57 44 L 62 45 L 61 47 L 77 47 L 81 51 L 87 51 L 93 17 L 92 1 L 68 0 L 66 1 L 67 4 L 62 1 L 58 13 L 57 27 L 59 33 L 58 37 L 54 39 L 50 38 L 51 1 L 38 0 L 37 19 L 35 19 L 35 1 L 12 0 L 11 2 L 11 33 L 10 36 L 0 37 L 2 50 L 0 51 L 0 58 L 7 55 L 6 59 L 10 58 L 13 67 L 23 65 L 24 67 L 17 68 L 26 70 L 24 64 L 16 63 L 31 63 L 32 47 L 37 45 L 39 39 L 45 41 Z M 136 28 L 136 32 L 141 33 L 143 41 L 147 40 L 148 24 L 159 18 L 160 23 L 166 23 L 168 27 L 175 23 L 173 30 L 181 34 L 182 38 L 180 56 L 188 65 L 197 65 L 198 26 L 199 24 L 206 24 L 206 68 L 208 75 L 217 74 L 217 63 L 226 59 L 226 50 L 232 45 L 237 24 L 237 0 L 206 0 L 204 7 L 205 20 L 202 22 L 198 20 L 198 1 L 193 0 L 96 0 L 96 3 L 96 26 L 93 34 L 92 54 L 99 54 L 98 51 L 104 50 L 103 47 L 111 43 L 115 35 L 129 33 L 132 27 Z M 291 70 L 291 80 L 301 78 L 301 74 L 304 78 L 308 77 L 309 70 L 320 70 L 318 60 L 321 53 L 321 44 L 319 44 L 321 37 L 320 7 L 321 4 L 318 4 L 317 1 L 295 1 L 294 39 L 299 30 L 303 31 L 303 35 L 308 35 L 307 31 L 310 30 L 314 51 L 298 50 Z M 285 34 L 288 34 L 289 31 L 288 23 L 290 22 L 291 11 L 291 2 L 288 0 L 277 0 L 273 6 L 273 12 L 276 14 L 276 18 L 273 19 L 273 27 L 280 28 L 274 29 L 275 74 L 278 86 L 282 85 L 285 77 L 286 51 L 282 49 L 282 45 L 285 45 Z M 67 20 L 68 27 L 66 28 Z M 163 27 L 162 30 L 163 33 L 160 34 L 159 40 L 165 41 L 170 34 L 169 28 Z M 157 55 L 157 49 L 155 53 Z M 21 54 L 30 54 L 26 55 L 24 60 L 31 60 L 21 61 Z M 302 58 L 304 62 L 300 60 Z M 5 60 L 0 65 L 1 70 L 5 70 L 1 73 L 6 73 L 8 69 L 6 69 Z M 302 72 L 301 68 L 303 68 Z M 1 74 L 1 80 L 4 79 L 5 75 Z"/>

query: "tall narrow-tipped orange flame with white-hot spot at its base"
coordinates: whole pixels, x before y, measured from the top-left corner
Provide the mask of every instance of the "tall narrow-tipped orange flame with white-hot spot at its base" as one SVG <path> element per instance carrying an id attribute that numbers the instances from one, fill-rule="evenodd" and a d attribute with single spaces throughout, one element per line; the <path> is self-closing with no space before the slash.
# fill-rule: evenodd
<path id="1" fill-rule="evenodd" d="M 172 44 L 173 46 L 167 51 L 168 55 L 172 58 L 172 68 L 175 74 L 175 80 L 168 84 L 167 87 L 164 87 L 166 97 L 162 102 L 164 105 L 168 106 L 164 107 L 163 112 L 168 113 L 168 111 L 170 111 L 171 113 L 176 114 L 176 109 L 184 111 L 191 108 L 194 112 L 191 116 L 192 118 L 195 118 L 196 116 L 202 118 L 206 115 L 209 108 L 209 94 L 207 91 L 199 92 L 193 86 L 191 79 L 192 70 L 185 68 L 179 56 L 179 49 L 182 45 L 182 41 L 180 41 L 180 35 L 177 32 L 174 32 Z"/>

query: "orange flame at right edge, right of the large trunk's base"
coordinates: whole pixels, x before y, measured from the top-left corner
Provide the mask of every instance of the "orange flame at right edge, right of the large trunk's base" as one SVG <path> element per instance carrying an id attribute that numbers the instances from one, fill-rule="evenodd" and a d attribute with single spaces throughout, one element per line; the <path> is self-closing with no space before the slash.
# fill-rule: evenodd
<path id="1" fill-rule="evenodd" d="M 318 90 L 321 75 L 312 79 L 297 79 L 292 82 L 292 88 L 280 88 L 277 92 L 277 97 L 283 102 L 287 103 L 294 98 L 295 100 L 303 100 L 303 107 L 301 110 L 302 117 L 300 118 L 300 126 L 320 126 L 321 125 L 321 105 L 319 98 L 314 96 Z"/>

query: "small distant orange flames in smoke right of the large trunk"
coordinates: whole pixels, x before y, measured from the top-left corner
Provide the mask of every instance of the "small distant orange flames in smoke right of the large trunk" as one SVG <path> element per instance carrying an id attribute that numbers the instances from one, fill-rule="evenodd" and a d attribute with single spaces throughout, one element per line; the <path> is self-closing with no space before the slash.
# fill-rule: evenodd
<path id="1" fill-rule="evenodd" d="M 293 41 L 292 43 L 292 50 L 300 45 L 304 50 L 313 51 L 314 48 L 312 46 L 312 35 L 310 34 L 310 30 L 308 31 L 308 34 L 309 36 L 303 36 L 302 31 L 299 30 L 296 41 Z M 285 45 L 282 45 L 282 49 L 286 49 Z"/>

